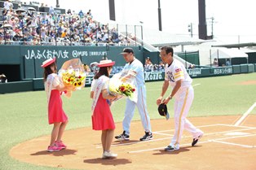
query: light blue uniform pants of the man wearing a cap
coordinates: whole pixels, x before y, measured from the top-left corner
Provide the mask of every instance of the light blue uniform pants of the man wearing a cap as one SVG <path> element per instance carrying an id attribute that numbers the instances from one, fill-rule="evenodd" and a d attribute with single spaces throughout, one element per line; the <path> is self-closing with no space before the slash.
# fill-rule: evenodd
<path id="1" fill-rule="evenodd" d="M 130 134 L 130 121 L 132 120 L 133 116 L 135 115 L 135 107 L 138 108 L 139 116 L 141 123 L 143 125 L 143 129 L 145 132 L 152 132 L 150 118 L 148 116 L 148 109 L 147 109 L 147 95 L 146 95 L 146 87 L 145 85 L 139 85 L 137 87 L 138 93 L 138 102 L 130 101 L 129 98 L 126 98 L 126 111 L 125 117 L 122 121 L 123 129 L 126 131 L 126 134 Z"/>

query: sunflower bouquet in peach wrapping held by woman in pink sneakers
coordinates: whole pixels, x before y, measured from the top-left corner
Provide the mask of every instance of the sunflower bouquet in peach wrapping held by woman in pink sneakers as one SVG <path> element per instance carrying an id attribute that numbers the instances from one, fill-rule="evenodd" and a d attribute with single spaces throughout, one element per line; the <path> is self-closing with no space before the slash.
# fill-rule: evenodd
<path id="1" fill-rule="evenodd" d="M 66 61 L 60 68 L 58 75 L 65 86 L 73 85 L 73 90 L 82 89 L 86 84 L 87 72 L 80 59 L 70 59 Z M 67 91 L 65 94 L 71 97 L 72 92 Z"/>

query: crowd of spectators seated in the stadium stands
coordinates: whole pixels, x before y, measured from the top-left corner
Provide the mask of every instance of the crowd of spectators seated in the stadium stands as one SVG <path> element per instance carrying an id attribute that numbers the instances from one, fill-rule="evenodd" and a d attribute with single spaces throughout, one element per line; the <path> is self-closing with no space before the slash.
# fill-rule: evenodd
<path id="1" fill-rule="evenodd" d="M 13 9 L 9 0 L 2 7 L 0 23 L 0 44 L 22 44 L 43 46 L 100 46 L 130 45 L 126 37 L 118 35 L 116 28 L 100 24 L 91 11 L 68 9 L 66 14 L 56 14 L 53 7 L 49 12 L 38 12 L 33 8 Z M 43 4 L 42 4 L 43 6 Z"/>

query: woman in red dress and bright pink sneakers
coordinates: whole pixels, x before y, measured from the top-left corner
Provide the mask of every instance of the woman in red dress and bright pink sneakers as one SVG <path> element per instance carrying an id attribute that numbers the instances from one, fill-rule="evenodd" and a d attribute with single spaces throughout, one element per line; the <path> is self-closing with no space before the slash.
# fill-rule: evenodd
<path id="1" fill-rule="evenodd" d="M 57 65 L 54 59 L 47 59 L 42 63 L 44 68 L 43 80 L 48 101 L 48 121 L 54 124 L 51 132 L 51 142 L 47 150 L 49 152 L 65 149 L 66 146 L 61 141 L 64 129 L 68 124 L 68 117 L 62 108 L 62 99 L 60 93 L 67 90 L 67 87 L 61 83 L 59 76 L 56 74 Z"/>

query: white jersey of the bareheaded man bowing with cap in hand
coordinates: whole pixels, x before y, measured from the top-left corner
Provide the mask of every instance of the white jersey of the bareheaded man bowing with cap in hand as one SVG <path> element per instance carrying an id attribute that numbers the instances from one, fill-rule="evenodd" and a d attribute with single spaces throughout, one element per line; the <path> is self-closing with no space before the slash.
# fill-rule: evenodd
<path id="1" fill-rule="evenodd" d="M 166 64 L 165 80 L 169 81 L 172 87 L 174 87 L 179 80 L 183 80 L 181 87 L 188 87 L 192 84 L 192 78 L 188 75 L 183 63 L 180 63 L 177 59 L 174 59 L 173 63 L 170 65 Z"/>

